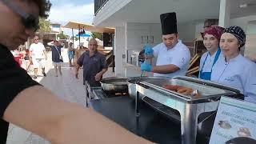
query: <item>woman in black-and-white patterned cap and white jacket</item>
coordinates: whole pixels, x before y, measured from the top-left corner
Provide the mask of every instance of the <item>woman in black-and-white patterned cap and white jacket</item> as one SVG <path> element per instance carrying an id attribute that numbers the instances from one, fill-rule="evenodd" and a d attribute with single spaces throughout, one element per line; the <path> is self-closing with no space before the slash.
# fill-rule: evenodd
<path id="1" fill-rule="evenodd" d="M 239 26 L 224 30 L 220 47 L 224 58 L 213 67 L 211 80 L 232 86 L 245 95 L 245 100 L 256 102 L 256 64 L 240 54 L 246 34 Z"/>

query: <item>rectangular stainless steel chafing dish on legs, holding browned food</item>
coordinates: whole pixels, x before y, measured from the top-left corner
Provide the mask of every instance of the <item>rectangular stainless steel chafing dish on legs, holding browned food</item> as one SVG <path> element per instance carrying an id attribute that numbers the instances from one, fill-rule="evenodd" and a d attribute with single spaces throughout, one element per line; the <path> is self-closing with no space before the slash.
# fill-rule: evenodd
<path id="1" fill-rule="evenodd" d="M 172 90 L 166 90 L 162 87 L 165 84 L 186 86 L 198 90 L 201 97 L 194 98 L 178 94 Z M 140 95 L 143 98 L 150 98 L 162 105 L 178 110 L 181 122 L 182 144 L 193 144 L 196 142 L 198 115 L 217 110 L 221 96 L 240 98 L 239 90 L 198 78 L 152 78 L 150 81 L 136 84 L 135 109 L 137 115 L 139 115 L 138 101 Z"/>

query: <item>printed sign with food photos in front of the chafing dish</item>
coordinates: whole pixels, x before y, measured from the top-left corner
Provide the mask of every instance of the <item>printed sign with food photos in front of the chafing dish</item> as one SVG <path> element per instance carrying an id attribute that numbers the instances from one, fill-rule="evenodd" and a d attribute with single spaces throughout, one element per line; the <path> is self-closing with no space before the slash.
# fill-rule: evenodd
<path id="1" fill-rule="evenodd" d="M 210 144 L 256 143 L 256 104 L 222 97 Z"/>

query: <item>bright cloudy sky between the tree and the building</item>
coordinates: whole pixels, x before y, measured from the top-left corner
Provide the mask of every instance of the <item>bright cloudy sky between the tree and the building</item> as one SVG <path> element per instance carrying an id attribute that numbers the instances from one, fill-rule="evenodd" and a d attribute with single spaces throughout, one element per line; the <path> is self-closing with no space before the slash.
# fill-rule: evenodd
<path id="1" fill-rule="evenodd" d="M 50 0 L 50 22 L 65 26 L 70 21 L 91 24 L 94 18 L 94 0 Z M 64 29 L 64 34 L 72 35 L 71 29 Z M 78 30 L 74 30 L 78 34 Z"/>

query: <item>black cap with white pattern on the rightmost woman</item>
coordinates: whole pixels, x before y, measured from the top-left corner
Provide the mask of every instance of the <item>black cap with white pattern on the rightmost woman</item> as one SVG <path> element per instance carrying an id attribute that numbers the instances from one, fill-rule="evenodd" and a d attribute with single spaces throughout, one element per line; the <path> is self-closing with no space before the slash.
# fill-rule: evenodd
<path id="1" fill-rule="evenodd" d="M 240 47 L 245 46 L 246 44 L 246 34 L 239 26 L 230 26 L 229 28 L 226 28 L 223 33 L 230 33 L 235 36 L 235 38 L 238 38 L 238 42 L 240 44 Z"/>

